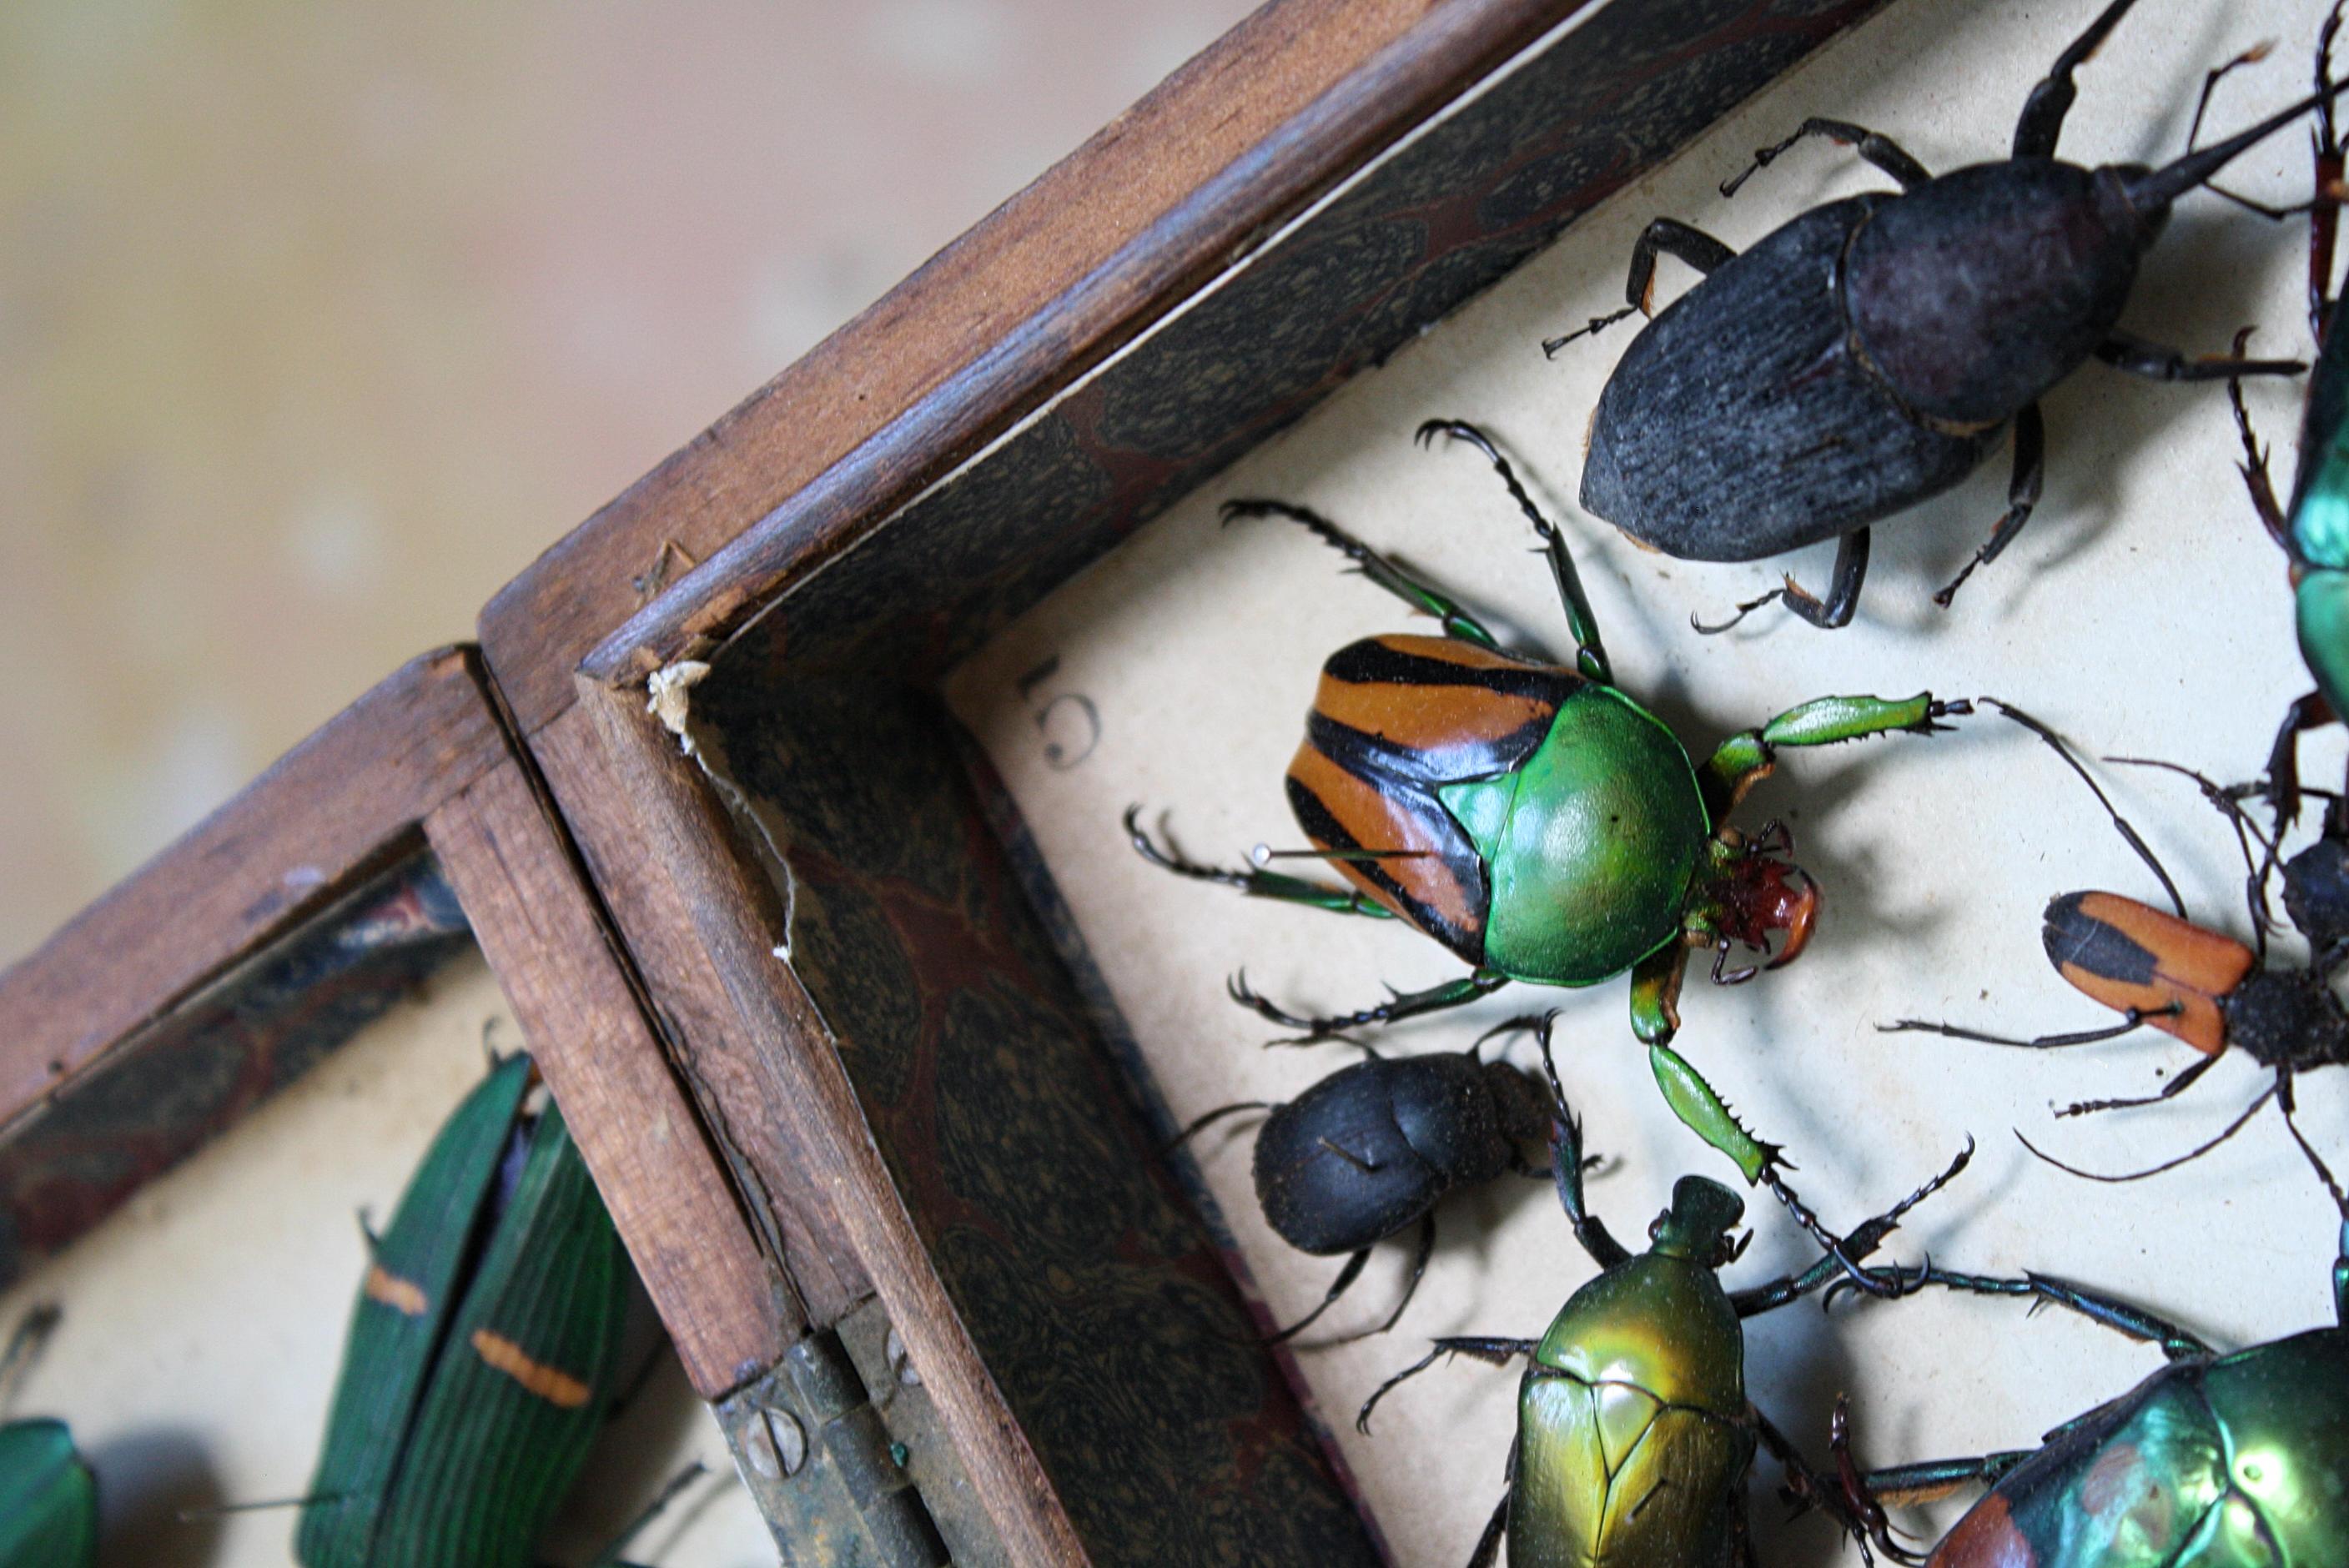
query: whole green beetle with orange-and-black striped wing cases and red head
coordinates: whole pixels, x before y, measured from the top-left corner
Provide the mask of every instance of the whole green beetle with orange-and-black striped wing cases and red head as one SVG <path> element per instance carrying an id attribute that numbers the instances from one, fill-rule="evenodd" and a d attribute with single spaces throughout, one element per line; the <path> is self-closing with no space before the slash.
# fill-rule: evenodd
<path id="1" fill-rule="evenodd" d="M 1372 636 L 1322 664 L 1287 791 L 1313 854 L 1351 887 L 1189 861 L 1142 831 L 1139 805 L 1125 829 L 1167 871 L 1264 899 L 1395 918 L 1470 965 L 1442 986 L 1325 1019 L 1290 1014 L 1233 976 L 1233 998 L 1273 1023 L 1325 1040 L 1459 1007 L 1508 981 L 1595 986 L 1630 972 L 1633 1033 L 1649 1045 L 1672 1108 L 1724 1153 L 1762 1150 L 1710 1124 L 1710 1096 L 1694 1091 L 1694 1070 L 1668 1049 L 1691 948 L 1712 948 L 1712 979 L 1738 984 L 1764 965 L 1731 972 L 1731 951 L 1766 955 L 1783 937 L 1766 967 L 1792 962 L 1818 918 L 1818 887 L 1785 859 L 1790 833 L 1771 824 L 1748 838 L 1729 815 L 1771 772 L 1778 746 L 1926 735 L 1968 707 L 1931 692 L 1903 702 L 1820 697 L 1731 735 L 1694 765 L 1663 721 L 1614 683 L 1564 538 L 1501 451 L 1461 420 L 1419 427 L 1421 441 L 1435 434 L 1485 453 L 1532 519 L 1574 634 L 1574 667 L 1506 653 L 1456 601 L 1315 512 L 1229 502 L 1226 519 L 1304 523 L 1365 577 L 1435 617 L 1442 636 Z M 1748 1181 L 1759 1181 L 1755 1160 L 1738 1157 Z"/>

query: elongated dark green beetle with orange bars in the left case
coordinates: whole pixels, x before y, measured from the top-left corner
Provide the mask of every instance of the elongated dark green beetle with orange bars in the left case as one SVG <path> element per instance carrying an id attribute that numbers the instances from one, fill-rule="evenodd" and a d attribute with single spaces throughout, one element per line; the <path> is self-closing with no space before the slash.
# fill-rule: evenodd
<path id="1" fill-rule="evenodd" d="M 371 1237 L 294 1537 L 305 1568 L 529 1568 L 604 1425 L 627 1258 L 531 1082 L 529 1056 L 496 1063 Z"/>

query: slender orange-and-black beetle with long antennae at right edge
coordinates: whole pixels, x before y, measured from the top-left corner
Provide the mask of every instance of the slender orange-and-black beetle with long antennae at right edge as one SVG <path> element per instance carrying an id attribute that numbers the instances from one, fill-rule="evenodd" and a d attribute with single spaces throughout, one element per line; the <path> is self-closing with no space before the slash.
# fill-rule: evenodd
<path id="1" fill-rule="evenodd" d="M 1931 1019 L 1900 1019 L 1884 1023 L 1886 1033 L 1917 1030 L 1947 1035 L 1952 1040 L 1980 1040 L 1985 1045 L 2020 1045 L 2032 1049 L 2060 1049 L 2114 1040 L 2135 1028 L 2159 1028 L 2192 1045 L 2201 1056 L 2173 1075 L 2161 1091 L 2135 1099 L 2102 1099 L 2065 1106 L 2058 1115 L 2093 1115 L 2098 1110 L 2123 1110 L 2131 1106 L 2154 1106 L 2192 1089 L 2222 1054 L 2239 1049 L 2269 1068 L 2271 1080 L 2217 1136 L 2196 1148 L 2163 1160 L 2142 1171 L 2123 1176 L 2100 1176 L 2079 1171 L 2060 1160 L 2048 1160 L 2074 1176 L 2091 1181 L 2138 1181 L 2170 1171 L 2196 1160 L 2257 1115 L 2267 1101 L 2283 1108 L 2286 1124 L 2293 1120 L 2293 1077 L 2314 1068 L 2349 1063 L 2349 1009 L 2333 993 L 2333 976 L 2349 960 L 2349 833 L 2342 831 L 2340 812 L 2328 812 L 2326 836 L 2281 859 L 2276 840 L 2253 822 L 2241 796 L 2260 793 L 2267 786 L 2222 789 L 2210 779 L 2178 768 L 2175 763 L 2145 763 L 2145 758 L 2114 758 L 2166 768 L 2194 779 L 2203 798 L 2217 805 L 2236 829 L 2243 845 L 2246 887 L 2253 915 L 2253 944 L 2246 946 L 2225 932 L 2213 932 L 2187 918 L 2178 883 L 2161 866 L 2145 838 L 2123 819 L 2105 791 L 2065 746 L 2051 728 L 2004 702 L 1999 711 L 2039 735 L 2041 742 L 2077 772 L 2112 815 L 2121 838 L 2154 869 L 2170 906 L 2178 913 L 2140 904 L 2116 892 L 2065 892 L 2048 901 L 2041 925 L 2041 946 L 2055 972 L 2084 995 L 2121 1014 L 2107 1028 L 2084 1028 L 2058 1035 L 1992 1035 L 1978 1028 L 1943 1023 Z M 2253 847 L 2260 854 L 2253 854 Z M 2300 934 L 2309 941 L 2309 960 L 2297 967 L 2267 967 L 2267 887 L 2274 873 L 2283 873 L 2283 908 Z M 2295 1141 L 2300 1129 L 2293 1127 Z M 2030 1141 L 2025 1141 L 2030 1148 Z M 2314 1160 L 2314 1150 L 2302 1143 Z M 2039 1150 L 2032 1148 L 2037 1155 Z"/>

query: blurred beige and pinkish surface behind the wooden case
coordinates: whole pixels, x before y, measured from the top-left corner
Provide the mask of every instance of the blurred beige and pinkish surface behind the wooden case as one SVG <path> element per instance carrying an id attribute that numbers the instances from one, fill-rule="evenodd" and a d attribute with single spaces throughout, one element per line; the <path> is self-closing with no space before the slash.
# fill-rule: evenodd
<path id="1" fill-rule="evenodd" d="M 0 7 L 0 965 L 1247 9 Z"/>

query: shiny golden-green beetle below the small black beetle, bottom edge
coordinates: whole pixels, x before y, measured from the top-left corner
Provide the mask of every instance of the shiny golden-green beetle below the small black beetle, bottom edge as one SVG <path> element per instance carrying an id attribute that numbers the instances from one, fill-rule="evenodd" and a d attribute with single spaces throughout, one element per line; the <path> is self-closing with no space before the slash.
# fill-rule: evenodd
<path id="1" fill-rule="evenodd" d="M 1550 1061 L 1548 1021 L 1541 1023 Z M 1649 1249 L 1623 1249 L 1583 1207 L 1581 1127 L 1550 1066 L 1555 1101 L 1550 1167 L 1574 1239 L 1600 1275 L 1567 1298 L 1539 1340 L 1445 1338 L 1362 1404 L 1355 1427 L 1405 1378 L 1438 1357 L 1470 1354 L 1496 1366 L 1529 1357 L 1517 1390 L 1517 1441 L 1508 1495 L 1478 1537 L 1468 1568 L 1489 1568 L 1508 1535 L 1510 1568 L 1734 1568 L 1748 1563 L 1745 1472 L 1757 1441 L 1785 1467 L 1790 1486 L 1863 1530 L 1844 1493 L 1830 1488 L 1745 1397 L 1741 1322 L 1799 1300 L 1844 1277 L 1839 1256 L 1820 1258 L 1745 1291 L 1724 1291 L 1715 1270 L 1743 1251 L 1729 1232 L 1745 1202 L 1703 1176 L 1682 1176 L 1672 1207 L 1649 1228 Z M 1844 1258 L 1865 1258 L 1914 1204 L 1957 1176 L 1947 1171 L 1891 1211 L 1842 1237 Z M 1797 1209 L 1804 1228 L 1813 1228 Z M 1884 1293 L 1910 1289 L 1900 1270 L 1870 1268 Z"/>

